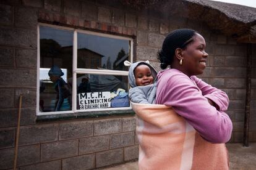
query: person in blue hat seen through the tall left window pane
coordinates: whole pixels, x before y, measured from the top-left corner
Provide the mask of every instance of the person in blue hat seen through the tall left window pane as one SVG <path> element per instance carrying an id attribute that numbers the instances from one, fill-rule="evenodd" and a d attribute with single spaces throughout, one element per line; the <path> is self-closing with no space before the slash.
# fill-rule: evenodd
<path id="1" fill-rule="evenodd" d="M 68 84 L 61 78 L 64 75 L 61 68 L 54 65 L 48 72 L 49 78 L 54 83 L 56 91 L 56 99 L 52 100 L 51 105 L 53 111 L 66 111 L 70 110 L 71 92 Z"/>

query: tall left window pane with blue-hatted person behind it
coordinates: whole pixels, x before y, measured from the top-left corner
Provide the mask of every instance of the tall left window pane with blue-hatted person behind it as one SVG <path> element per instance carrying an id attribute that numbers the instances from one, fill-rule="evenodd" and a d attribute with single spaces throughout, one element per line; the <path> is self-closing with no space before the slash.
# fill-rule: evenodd
<path id="1" fill-rule="evenodd" d="M 73 32 L 40 26 L 40 111 L 72 106 Z"/>

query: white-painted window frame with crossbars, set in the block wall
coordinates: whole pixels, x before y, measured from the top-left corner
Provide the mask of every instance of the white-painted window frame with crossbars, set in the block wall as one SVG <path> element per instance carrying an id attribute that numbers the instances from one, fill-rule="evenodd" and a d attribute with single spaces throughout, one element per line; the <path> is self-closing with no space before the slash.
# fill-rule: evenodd
<path id="1" fill-rule="evenodd" d="M 73 33 L 73 73 L 72 73 L 72 110 L 69 111 L 48 111 L 48 112 L 40 112 L 39 110 L 39 100 L 40 100 L 40 26 L 48 26 L 50 28 L 57 28 L 60 30 L 71 30 Z M 128 76 L 128 71 L 115 71 L 115 70 L 96 70 L 96 69 L 88 69 L 88 68 L 77 68 L 77 33 L 85 33 L 92 34 L 96 36 L 103 36 L 106 38 L 114 38 L 114 39 L 125 39 L 130 41 L 130 62 L 133 62 L 133 54 L 134 54 L 134 39 L 117 36 L 113 34 L 105 34 L 98 33 L 95 31 L 87 31 L 87 30 L 79 30 L 75 28 L 69 28 L 66 26 L 58 26 L 58 25 L 49 25 L 46 23 L 38 23 L 37 26 L 37 77 L 36 77 L 36 115 L 57 115 L 57 114 L 65 114 L 65 113 L 78 113 L 78 112 L 92 112 L 92 111 L 109 111 L 109 110 L 130 110 L 131 107 L 119 107 L 119 108 L 98 108 L 98 109 L 87 109 L 87 110 L 77 110 L 77 73 L 82 74 L 96 74 L 96 75 L 114 75 L 114 76 Z"/>

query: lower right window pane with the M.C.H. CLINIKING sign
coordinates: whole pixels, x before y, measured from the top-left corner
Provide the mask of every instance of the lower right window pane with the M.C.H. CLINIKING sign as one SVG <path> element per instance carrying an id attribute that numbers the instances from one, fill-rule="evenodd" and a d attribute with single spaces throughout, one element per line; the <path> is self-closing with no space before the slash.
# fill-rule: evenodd
<path id="1" fill-rule="evenodd" d="M 127 76 L 77 75 L 77 110 L 129 107 Z"/>

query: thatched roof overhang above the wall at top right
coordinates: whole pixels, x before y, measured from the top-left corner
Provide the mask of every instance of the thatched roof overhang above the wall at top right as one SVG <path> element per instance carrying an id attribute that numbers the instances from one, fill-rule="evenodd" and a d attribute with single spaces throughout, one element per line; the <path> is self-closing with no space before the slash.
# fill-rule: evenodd
<path id="1" fill-rule="evenodd" d="M 103 2 L 98 0 L 98 2 Z M 240 42 L 256 43 L 256 8 L 209 0 L 115 0 L 106 4 L 170 17 L 179 15 L 207 23 L 211 30 L 233 36 Z"/>

